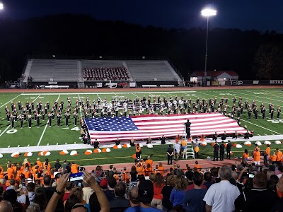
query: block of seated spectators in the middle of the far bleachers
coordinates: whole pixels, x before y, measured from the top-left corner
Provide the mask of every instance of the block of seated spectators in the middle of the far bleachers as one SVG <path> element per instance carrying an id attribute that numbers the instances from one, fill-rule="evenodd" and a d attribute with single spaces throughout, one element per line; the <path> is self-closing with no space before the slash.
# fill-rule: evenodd
<path id="1" fill-rule="evenodd" d="M 83 79 L 85 81 L 117 81 L 117 80 L 129 80 L 129 73 L 127 69 L 122 67 L 100 67 L 100 68 L 84 68 Z"/>

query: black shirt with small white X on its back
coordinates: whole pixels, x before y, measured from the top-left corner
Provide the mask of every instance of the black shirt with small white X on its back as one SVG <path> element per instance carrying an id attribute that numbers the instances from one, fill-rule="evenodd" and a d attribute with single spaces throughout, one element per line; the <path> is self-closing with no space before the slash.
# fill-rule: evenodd
<path id="1" fill-rule="evenodd" d="M 150 180 L 139 182 L 139 201 L 143 204 L 150 204 L 154 198 L 154 185 Z"/>

